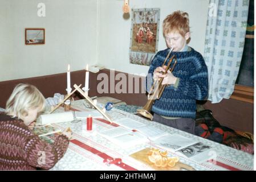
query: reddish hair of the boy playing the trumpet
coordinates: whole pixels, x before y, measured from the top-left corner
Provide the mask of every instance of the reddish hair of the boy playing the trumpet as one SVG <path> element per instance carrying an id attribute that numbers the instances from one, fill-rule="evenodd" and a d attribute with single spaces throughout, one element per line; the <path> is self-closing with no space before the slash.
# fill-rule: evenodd
<path id="1" fill-rule="evenodd" d="M 162 29 L 164 36 L 177 31 L 184 37 L 189 32 L 189 14 L 182 11 L 173 12 L 164 19 Z"/>

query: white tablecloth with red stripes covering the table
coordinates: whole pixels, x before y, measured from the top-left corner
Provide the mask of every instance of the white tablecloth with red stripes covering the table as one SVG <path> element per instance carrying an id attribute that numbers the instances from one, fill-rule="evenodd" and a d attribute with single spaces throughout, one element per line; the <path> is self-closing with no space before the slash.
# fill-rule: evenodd
<path id="1" fill-rule="evenodd" d="M 86 104 L 85 100 L 72 101 L 71 107 L 73 110 L 91 110 L 86 108 L 84 104 Z M 63 111 L 63 107 L 59 107 L 59 109 L 55 110 L 54 113 L 61 113 Z M 209 146 L 214 147 L 214 149 L 217 151 L 216 162 L 214 163 L 197 163 L 193 160 L 190 160 L 188 158 L 182 158 L 181 156 L 178 156 L 178 154 L 168 151 L 168 155 L 178 156 L 180 158 L 180 162 L 188 164 L 196 170 L 253 170 L 253 155 L 247 154 L 246 152 L 235 150 L 234 148 L 227 147 L 223 144 L 197 137 L 196 135 L 174 129 L 160 123 L 149 122 L 147 119 L 139 117 L 135 114 L 127 113 L 123 110 L 113 108 L 107 112 L 113 119 L 120 119 L 124 117 L 132 118 L 136 121 L 145 123 L 146 125 L 157 127 L 170 134 L 179 134 L 184 137 L 188 137 L 198 142 L 203 142 L 205 144 L 208 144 Z M 53 168 L 51 168 L 51 170 L 152 171 L 154 170 L 153 168 L 131 158 L 131 156 L 129 155 L 137 151 L 143 150 L 147 147 L 160 148 L 160 150 L 164 150 L 161 147 L 157 147 L 153 142 L 137 144 L 136 146 L 133 146 L 131 148 L 123 149 L 116 144 L 111 143 L 108 139 L 105 139 L 104 137 L 101 137 L 99 134 L 97 134 L 98 131 L 110 129 L 116 126 L 114 123 L 110 124 L 109 122 L 106 122 L 102 119 L 101 121 L 94 119 L 94 132 L 92 133 L 88 133 L 88 131 L 86 131 L 86 120 L 55 123 L 52 125 L 60 127 L 60 129 L 66 129 L 67 127 L 70 127 L 71 130 L 74 132 L 74 139 L 70 140 L 68 150 L 64 154 L 63 158 L 60 159 L 59 162 L 56 163 Z M 113 159 L 119 159 L 119 161 Z M 108 162 L 107 160 L 110 162 Z"/>

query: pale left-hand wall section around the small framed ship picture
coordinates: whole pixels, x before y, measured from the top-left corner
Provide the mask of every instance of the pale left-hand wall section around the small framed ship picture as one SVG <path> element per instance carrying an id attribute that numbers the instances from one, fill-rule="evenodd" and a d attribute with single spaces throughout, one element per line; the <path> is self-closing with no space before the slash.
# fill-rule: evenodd
<path id="1" fill-rule="evenodd" d="M 46 17 L 37 15 L 45 3 Z M 95 0 L 0 0 L 0 81 L 51 75 L 96 62 Z M 25 45 L 25 28 L 46 29 L 46 44 Z"/>

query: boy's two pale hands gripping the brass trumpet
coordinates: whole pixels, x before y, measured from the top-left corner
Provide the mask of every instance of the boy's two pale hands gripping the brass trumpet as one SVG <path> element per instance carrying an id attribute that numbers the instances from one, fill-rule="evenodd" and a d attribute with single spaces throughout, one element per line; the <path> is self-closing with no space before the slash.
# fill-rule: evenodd
<path id="1" fill-rule="evenodd" d="M 154 71 L 153 79 L 157 80 L 158 78 L 160 80 L 160 78 L 164 78 L 162 80 L 162 85 L 174 85 L 177 80 L 177 77 L 173 76 L 172 72 L 170 72 L 169 69 L 167 73 L 163 75 L 165 69 L 166 65 L 164 65 L 164 67 L 157 67 Z"/>

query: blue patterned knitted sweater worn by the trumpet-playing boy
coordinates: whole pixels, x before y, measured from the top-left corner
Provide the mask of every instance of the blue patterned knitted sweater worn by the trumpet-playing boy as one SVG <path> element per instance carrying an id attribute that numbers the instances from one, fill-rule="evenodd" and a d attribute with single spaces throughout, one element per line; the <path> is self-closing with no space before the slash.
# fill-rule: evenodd
<path id="1" fill-rule="evenodd" d="M 152 60 L 146 79 L 148 92 L 153 84 L 154 70 L 162 66 L 168 53 L 169 49 L 159 51 Z M 177 88 L 173 85 L 165 87 L 160 99 L 155 100 L 152 111 L 166 117 L 196 118 L 196 100 L 204 100 L 208 96 L 208 70 L 204 58 L 193 48 L 191 51 L 172 52 L 169 57 L 173 55 L 177 56 L 177 64 L 172 73 L 180 81 Z M 147 83 L 147 80 L 152 82 Z"/>

